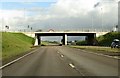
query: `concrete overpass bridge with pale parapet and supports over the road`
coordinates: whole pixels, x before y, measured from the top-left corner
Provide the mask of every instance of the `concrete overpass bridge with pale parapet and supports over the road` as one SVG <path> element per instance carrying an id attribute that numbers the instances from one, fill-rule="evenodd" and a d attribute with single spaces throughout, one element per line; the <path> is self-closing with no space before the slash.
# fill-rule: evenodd
<path id="1" fill-rule="evenodd" d="M 88 45 L 93 45 L 95 38 L 104 35 L 108 32 L 81 32 L 81 31 L 49 31 L 49 32 L 24 32 L 26 35 L 31 35 L 35 37 L 35 46 L 41 44 L 42 36 L 62 36 L 63 45 L 67 45 L 67 36 L 86 36 L 86 41 Z"/>

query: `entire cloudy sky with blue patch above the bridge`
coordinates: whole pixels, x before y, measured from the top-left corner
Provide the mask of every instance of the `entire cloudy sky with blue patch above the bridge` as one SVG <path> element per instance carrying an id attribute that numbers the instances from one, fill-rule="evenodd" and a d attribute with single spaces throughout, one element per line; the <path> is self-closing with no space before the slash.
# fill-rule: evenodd
<path id="1" fill-rule="evenodd" d="M 118 24 L 117 0 L 1 0 L 0 29 L 111 30 Z M 30 30 L 30 29 L 29 29 Z"/>

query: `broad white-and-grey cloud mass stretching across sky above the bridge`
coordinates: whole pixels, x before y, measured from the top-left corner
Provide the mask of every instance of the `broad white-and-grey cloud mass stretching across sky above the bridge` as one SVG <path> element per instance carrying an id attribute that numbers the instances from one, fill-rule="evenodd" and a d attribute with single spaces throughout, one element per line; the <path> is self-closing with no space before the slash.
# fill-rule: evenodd
<path id="1" fill-rule="evenodd" d="M 51 28 L 56 30 L 81 30 L 91 29 L 92 17 L 94 28 L 101 28 L 101 19 L 104 29 L 108 29 L 117 24 L 117 4 L 112 2 L 101 2 L 99 7 L 94 8 L 94 4 L 100 0 L 58 0 L 47 10 L 43 11 L 40 7 L 26 10 L 26 19 L 24 20 L 24 11 L 5 10 L 4 17 L 10 20 L 10 23 L 16 28 L 19 25 L 25 29 L 28 24 L 33 26 L 34 30 Z M 102 8 L 102 10 L 101 10 Z M 101 18 L 101 14 L 103 18 Z M 12 27 L 12 28 L 14 28 Z"/>

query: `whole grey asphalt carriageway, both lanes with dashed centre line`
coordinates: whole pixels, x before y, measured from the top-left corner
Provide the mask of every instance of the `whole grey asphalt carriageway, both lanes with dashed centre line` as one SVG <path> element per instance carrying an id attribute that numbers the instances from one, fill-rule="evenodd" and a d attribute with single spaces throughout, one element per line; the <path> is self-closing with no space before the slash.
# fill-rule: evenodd
<path id="1" fill-rule="evenodd" d="M 5 67 L 3 76 L 118 76 L 118 60 L 65 46 L 43 46 Z"/>

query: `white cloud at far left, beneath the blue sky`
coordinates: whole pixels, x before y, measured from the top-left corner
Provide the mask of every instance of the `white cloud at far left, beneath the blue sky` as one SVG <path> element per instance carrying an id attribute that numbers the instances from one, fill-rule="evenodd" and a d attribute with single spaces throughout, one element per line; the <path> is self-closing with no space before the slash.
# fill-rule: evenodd
<path id="1" fill-rule="evenodd" d="M 3 25 L 3 30 L 5 30 L 5 25 L 10 25 L 13 29 L 18 21 L 23 20 L 24 11 L 22 10 L 0 10 L 1 25 Z M 17 28 L 17 27 L 16 27 Z"/>

